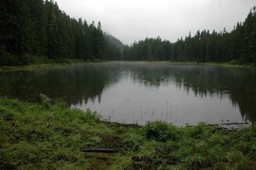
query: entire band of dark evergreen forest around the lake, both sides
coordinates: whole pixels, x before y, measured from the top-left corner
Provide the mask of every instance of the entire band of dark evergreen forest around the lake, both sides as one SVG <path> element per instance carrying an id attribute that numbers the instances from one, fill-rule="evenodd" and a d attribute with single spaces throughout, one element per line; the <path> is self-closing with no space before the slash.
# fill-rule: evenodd
<path id="1" fill-rule="evenodd" d="M 2 66 L 109 60 L 256 63 L 255 6 L 231 32 L 198 30 L 174 43 L 158 36 L 123 46 L 103 33 L 100 21 L 70 18 L 53 0 L 4 1 L 0 30 Z"/>

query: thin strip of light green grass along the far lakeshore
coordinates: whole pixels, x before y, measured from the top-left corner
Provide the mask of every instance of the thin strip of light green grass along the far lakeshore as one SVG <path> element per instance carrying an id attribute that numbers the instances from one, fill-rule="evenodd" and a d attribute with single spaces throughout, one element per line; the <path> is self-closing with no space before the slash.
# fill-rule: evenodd
<path id="1" fill-rule="evenodd" d="M 112 62 L 134 62 L 134 63 L 156 63 L 156 64 L 196 64 L 196 65 L 209 65 L 209 66 L 231 66 L 231 67 L 246 67 L 246 68 L 256 68 L 252 64 L 250 65 L 233 65 L 229 63 L 196 63 L 196 62 L 170 62 L 170 61 L 108 61 L 108 63 Z M 86 63 L 86 62 L 84 62 Z M 0 71 L 5 70 L 20 70 L 20 69 L 35 69 L 35 68 L 42 68 L 42 67 L 49 67 L 49 66 L 60 66 L 60 65 L 74 65 L 74 64 L 84 64 L 84 63 L 62 63 L 62 64 L 39 64 L 39 65 L 29 65 L 29 66 L 0 66 Z M 92 63 L 92 62 L 91 62 Z M 100 62 L 103 63 L 103 62 Z"/>

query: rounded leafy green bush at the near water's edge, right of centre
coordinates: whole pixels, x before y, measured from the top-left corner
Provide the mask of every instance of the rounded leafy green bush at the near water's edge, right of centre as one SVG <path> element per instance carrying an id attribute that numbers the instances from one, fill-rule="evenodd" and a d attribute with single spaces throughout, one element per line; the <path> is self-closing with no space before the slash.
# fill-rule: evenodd
<path id="1" fill-rule="evenodd" d="M 155 139 L 156 141 L 176 140 L 179 133 L 177 127 L 160 120 L 148 122 L 143 126 L 142 131 L 147 139 Z"/>

